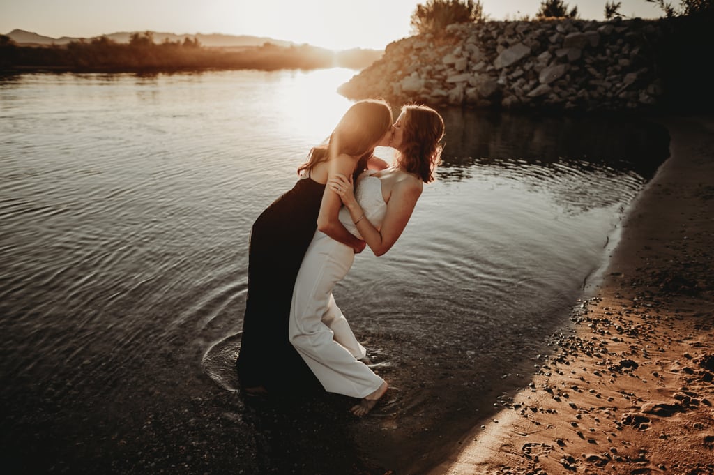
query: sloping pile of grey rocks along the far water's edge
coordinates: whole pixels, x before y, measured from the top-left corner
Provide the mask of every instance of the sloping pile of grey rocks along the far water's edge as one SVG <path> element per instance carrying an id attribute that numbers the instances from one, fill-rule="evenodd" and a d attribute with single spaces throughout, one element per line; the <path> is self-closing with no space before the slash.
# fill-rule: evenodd
<path id="1" fill-rule="evenodd" d="M 389 44 L 340 93 L 433 106 L 652 108 L 664 93 L 662 36 L 657 21 L 642 19 L 452 24 Z"/>

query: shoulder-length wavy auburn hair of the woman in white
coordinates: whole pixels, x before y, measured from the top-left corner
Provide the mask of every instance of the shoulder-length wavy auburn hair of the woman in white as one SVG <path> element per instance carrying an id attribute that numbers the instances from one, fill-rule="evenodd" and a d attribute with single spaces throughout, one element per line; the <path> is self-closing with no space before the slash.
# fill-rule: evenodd
<path id="1" fill-rule="evenodd" d="M 441 163 L 443 146 L 439 142 L 444 136 L 443 118 L 431 107 L 421 104 L 406 104 L 401 111 L 404 132 L 396 163 L 424 183 L 431 183 Z"/>

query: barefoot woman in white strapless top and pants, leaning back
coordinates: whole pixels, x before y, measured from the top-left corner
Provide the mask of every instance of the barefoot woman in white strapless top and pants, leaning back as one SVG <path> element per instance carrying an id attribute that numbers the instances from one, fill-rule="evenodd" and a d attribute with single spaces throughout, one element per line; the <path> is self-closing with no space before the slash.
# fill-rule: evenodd
<path id="1" fill-rule="evenodd" d="M 344 207 L 339 220 L 366 241 L 376 256 L 386 253 L 401 236 L 421 196 L 424 183 L 433 181 L 441 158 L 443 119 L 428 106 L 408 104 L 394 124 L 390 146 L 397 150 L 392 166 L 364 171 L 354 188 L 351 177 L 331 173 L 328 186 Z M 326 391 L 344 394 L 360 403 L 351 411 L 367 414 L 387 390 L 386 382 L 359 359 L 366 350 L 355 338 L 335 303 L 332 291 L 347 275 L 354 251 L 331 239 L 318 221 L 293 289 L 290 341 Z"/>

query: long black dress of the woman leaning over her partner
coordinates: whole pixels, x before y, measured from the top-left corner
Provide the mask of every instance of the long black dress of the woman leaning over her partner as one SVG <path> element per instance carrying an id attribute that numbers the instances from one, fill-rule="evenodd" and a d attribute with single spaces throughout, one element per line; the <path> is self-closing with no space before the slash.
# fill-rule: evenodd
<path id="1" fill-rule="evenodd" d="M 325 185 L 311 178 L 258 216 L 248 250 L 248 299 L 236 361 L 241 386 L 268 391 L 313 390 L 316 376 L 288 339 L 293 286 L 317 229 Z"/>

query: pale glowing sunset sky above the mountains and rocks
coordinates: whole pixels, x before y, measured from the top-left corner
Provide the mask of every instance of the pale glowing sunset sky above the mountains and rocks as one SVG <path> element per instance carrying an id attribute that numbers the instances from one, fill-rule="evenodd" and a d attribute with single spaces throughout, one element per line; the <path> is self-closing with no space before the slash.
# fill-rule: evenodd
<path id="1" fill-rule="evenodd" d="M 564 0 L 582 19 L 604 19 L 607 0 Z M 535 15 L 541 0 L 481 0 L 489 19 Z M 628 16 L 657 18 L 646 0 L 620 0 Z M 676 1 L 673 3 L 677 3 Z M 0 34 L 19 28 L 52 38 L 119 31 L 268 36 L 330 49 L 383 49 L 411 36 L 426 0 L 0 0 Z"/>

